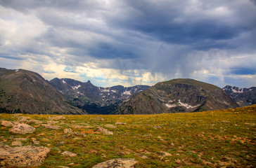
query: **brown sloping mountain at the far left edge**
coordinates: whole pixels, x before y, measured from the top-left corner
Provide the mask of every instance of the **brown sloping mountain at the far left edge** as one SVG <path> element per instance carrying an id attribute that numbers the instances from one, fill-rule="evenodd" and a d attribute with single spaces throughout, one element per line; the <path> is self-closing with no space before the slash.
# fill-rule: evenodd
<path id="1" fill-rule="evenodd" d="M 0 113 L 84 114 L 38 73 L 0 68 Z"/>

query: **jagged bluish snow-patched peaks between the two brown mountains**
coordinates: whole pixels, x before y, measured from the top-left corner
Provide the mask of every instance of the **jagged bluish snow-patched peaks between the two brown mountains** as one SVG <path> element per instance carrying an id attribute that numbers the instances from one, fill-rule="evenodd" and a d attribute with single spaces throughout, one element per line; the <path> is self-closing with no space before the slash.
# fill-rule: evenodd
<path id="1" fill-rule="evenodd" d="M 147 85 L 97 87 L 90 81 L 82 83 L 70 78 L 54 78 L 49 83 L 59 90 L 70 104 L 84 109 L 88 113 L 98 114 L 115 111 L 120 102 L 149 87 Z"/>

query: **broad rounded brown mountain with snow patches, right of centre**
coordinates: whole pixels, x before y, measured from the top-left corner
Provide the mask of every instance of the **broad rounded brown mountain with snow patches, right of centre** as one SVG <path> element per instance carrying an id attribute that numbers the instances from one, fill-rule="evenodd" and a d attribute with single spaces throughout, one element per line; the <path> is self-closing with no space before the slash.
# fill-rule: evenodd
<path id="1" fill-rule="evenodd" d="M 118 114 L 154 114 L 236 108 L 219 87 L 192 79 L 157 83 L 120 104 Z"/>

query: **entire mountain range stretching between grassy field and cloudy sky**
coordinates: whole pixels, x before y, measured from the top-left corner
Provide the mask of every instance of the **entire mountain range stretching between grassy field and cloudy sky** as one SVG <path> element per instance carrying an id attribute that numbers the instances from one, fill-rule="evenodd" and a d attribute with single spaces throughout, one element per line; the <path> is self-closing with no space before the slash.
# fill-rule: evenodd
<path id="1" fill-rule="evenodd" d="M 193 79 L 174 79 L 151 87 L 97 87 L 90 81 L 48 81 L 32 71 L 0 68 L 0 113 L 152 114 L 219 110 L 255 104 L 255 88 L 221 89 Z"/>

